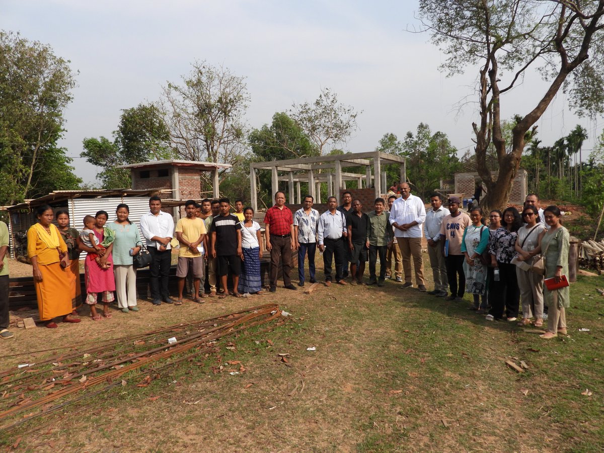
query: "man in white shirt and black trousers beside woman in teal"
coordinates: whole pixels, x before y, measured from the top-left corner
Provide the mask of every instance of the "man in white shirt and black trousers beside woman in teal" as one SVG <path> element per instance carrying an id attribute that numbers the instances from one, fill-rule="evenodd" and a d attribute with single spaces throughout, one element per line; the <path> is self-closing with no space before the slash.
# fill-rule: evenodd
<path id="1" fill-rule="evenodd" d="M 161 210 L 161 198 L 154 195 L 149 199 L 149 212 L 141 217 L 141 231 L 147 240 L 147 249 L 151 254 L 151 298 L 153 305 L 162 301 L 173 304 L 168 291 L 172 250 L 170 241 L 174 236 L 174 219 Z"/>

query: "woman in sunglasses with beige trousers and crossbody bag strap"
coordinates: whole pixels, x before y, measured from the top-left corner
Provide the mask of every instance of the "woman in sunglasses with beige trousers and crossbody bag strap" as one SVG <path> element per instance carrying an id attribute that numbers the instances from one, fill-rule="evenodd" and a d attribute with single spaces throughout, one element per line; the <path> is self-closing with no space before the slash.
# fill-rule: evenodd
<path id="1" fill-rule="evenodd" d="M 547 228 L 538 221 L 539 212 L 533 206 L 524 208 L 522 219 L 526 225 L 518 230 L 515 247 L 518 257 L 516 259 L 532 265 L 536 255 L 541 252 L 539 243 Z M 518 277 L 520 300 L 522 301 L 522 321 L 518 325 L 527 326 L 535 315 L 535 327 L 543 326 L 543 275 L 516 267 L 516 277 Z M 508 318 L 508 321 L 515 320 Z"/>

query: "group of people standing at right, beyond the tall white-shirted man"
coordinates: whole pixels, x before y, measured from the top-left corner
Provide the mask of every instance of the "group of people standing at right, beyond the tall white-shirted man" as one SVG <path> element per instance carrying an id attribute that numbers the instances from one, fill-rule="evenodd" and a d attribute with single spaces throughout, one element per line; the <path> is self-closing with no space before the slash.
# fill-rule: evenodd
<path id="1" fill-rule="evenodd" d="M 470 309 L 487 313 L 487 321 L 504 317 L 516 321 L 522 314 L 520 326 L 534 323 L 542 327 L 547 319 L 542 338 L 565 334 L 568 286 L 551 291 L 544 286 L 544 279 L 560 283 L 568 274 L 570 235 L 562 226 L 559 208 L 541 209 L 538 196 L 529 194 L 522 213 L 515 207 L 503 213 L 492 210 L 487 226 L 479 207 L 469 208 L 468 215 L 460 210 L 460 203 L 457 197 L 449 198 L 447 210 L 440 194 L 431 197 L 432 216 L 426 220 L 426 231 L 433 233 L 440 222 L 440 241 L 433 237 L 428 242 L 435 281 L 431 293 L 460 301 L 468 292 L 474 301 Z M 439 216 L 442 218 L 436 220 Z M 544 271 L 536 266 L 542 257 Z M 445 275 L 450 295 L 444 286 Z"/>

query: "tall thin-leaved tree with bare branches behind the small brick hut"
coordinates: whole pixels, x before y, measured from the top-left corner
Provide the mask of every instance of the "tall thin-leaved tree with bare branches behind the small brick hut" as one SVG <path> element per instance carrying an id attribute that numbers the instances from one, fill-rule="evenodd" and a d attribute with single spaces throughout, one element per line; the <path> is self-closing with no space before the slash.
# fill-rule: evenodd
<path id="1" fill-rule="evenodd" d="M 171 146 L 180 158 L 236 164 L 245 150 L 249 94 L 228 68 L 193 63 L 182 83 L 163 88 L 161 103 Z"/>

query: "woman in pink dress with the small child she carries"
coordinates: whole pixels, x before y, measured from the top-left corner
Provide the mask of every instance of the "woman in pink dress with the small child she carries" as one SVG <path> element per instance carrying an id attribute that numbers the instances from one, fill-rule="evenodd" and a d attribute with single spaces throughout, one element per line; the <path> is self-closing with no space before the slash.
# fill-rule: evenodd
<path id="1" fill-rule="evenodd" d="M 111 318 L 109 313 L 109 304 L 115 297 L 115 279 L 113 273 L 113 260 L 111 252 L 113 249 L 113 240 L 115 239 L 114 230 L 105 227 L 109 218 L 106 211 L 98 211 L 97 214 L 86 216 L 84 225 L 86 230 L 80 233 L 80 250 L 87 252 L 84 268 L 86 271 L 86 304 L 90 306 L 91 317 L 93 321 L 101 321 L 103 318 Z M 97 313 L 96 304 L 98 293 L 102 295 L 103 316 Z"/>

